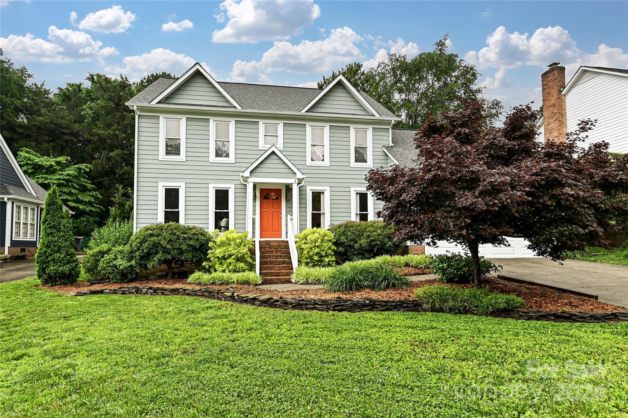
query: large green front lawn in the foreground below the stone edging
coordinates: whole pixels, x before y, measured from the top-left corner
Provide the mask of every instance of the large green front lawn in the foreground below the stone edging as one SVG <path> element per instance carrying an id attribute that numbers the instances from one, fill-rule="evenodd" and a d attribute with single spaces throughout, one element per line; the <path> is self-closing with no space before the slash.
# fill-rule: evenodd
<path id="1" fill-rule="evenodd" d="M 69 297 L 37 283 L 0 285 L 2 417 L 627 416 L 625 324 Z M 567 362 L 603 368 L 573 377 Z M 537 392 L 458 399 L 464 384 Z M 603 391 L 568 402 L 555 385 Z"/>

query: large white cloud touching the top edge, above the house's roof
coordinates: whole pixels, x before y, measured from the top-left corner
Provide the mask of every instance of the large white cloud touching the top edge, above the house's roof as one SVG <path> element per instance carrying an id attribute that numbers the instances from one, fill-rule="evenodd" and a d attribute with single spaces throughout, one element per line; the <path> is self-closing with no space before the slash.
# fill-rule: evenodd
<path id="1" fill-rule="evenodd" d="M 212 41 L 224 43 L 286 40 L 320 16 L 313 0 L 226 0 L 220 10 L 214 15 L 218 23 L 229 21 L 214 31 Z"/>

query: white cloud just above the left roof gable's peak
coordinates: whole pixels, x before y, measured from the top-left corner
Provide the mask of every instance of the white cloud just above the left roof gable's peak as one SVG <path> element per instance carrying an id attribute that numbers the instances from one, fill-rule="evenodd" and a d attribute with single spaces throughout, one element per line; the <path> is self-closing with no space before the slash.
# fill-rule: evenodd
<path id="1" fill-rule="evenodd" d="M 122 66 L 110 65 L 106 67 L 105 70 L 109 73 L 124 74 L 134 82 L 148 73 L 166 71 L 175 75 L 181 75 L 195 63 L 196 61 L 193 58 L 185 54 L 178 54 L 171 50 L 157 48 L 142 55 L 125 56 L 122 60 Z M 202 62 L 201 65 L 212 77 L 215 77 L 206 63 Z"/>

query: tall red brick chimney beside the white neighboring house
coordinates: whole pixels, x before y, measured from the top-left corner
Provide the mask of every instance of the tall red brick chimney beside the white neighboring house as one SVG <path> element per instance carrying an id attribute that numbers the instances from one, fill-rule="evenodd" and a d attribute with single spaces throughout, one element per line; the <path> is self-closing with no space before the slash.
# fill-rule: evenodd
<path id="1" fill-rule="evenodd" d="M 549 64 L 549 70 L 541 74 L 545 142 L 563 142 L 567 134 L 567 106 L 562 93 L 565 88 L 565 67 L 559 64 Z"/>

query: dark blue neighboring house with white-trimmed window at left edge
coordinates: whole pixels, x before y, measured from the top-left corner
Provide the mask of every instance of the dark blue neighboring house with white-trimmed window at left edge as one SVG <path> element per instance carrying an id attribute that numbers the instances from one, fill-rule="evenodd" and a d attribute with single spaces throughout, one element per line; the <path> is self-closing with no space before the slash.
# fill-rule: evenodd
<path id="1" fill-rule="evenodd" d="M 0 251 L 33 257 L 46 191 L 19 168 L 0 135 Z"/>

